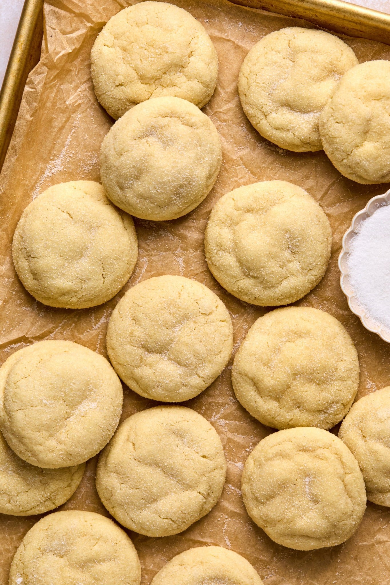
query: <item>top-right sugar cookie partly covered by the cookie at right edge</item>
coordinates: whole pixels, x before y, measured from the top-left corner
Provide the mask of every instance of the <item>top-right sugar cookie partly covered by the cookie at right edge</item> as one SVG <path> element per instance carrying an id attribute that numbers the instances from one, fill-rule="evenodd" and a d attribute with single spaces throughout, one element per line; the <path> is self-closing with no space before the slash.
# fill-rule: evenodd
<path id="1" fill-rule="evenodd" d="M 357 63 L 346 43 L 323 30 L 275 30 L 244 59 L 241 105 L 261 136 L 281 148 L 321 150 L 320 112 L 340 78 Z"/>

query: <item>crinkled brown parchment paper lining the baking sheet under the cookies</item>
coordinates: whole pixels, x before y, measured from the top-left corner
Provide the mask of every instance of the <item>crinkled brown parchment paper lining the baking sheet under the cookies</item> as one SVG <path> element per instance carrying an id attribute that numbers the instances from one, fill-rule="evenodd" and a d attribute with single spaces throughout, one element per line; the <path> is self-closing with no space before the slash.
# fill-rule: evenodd
<path id="1" fill-rule="evenodd" d="M 89 53 L 103 24 L 132 1 L 48 0 L 44 6 L 42 59 L 23 95 L 11 147 L 0 177 L 2 274 L 0 278 L 0 363 L 15 350 L 40 339 L 69 339 L 106 356 L 109 316 L 119 298 L 141 280 L 161 274 L 195 278 L 225 302 L 234 325 L 234 352 L 264 309 L 240 302 L 213 279 L 203 252 L 210 209 L 227 191 L 261 180 L 287 180 L 319 201 L 333 230 L 332 259 L 322 282 L 297 304 L 336 316 L 356 343 L 361 383 L 358 397 L 390 383 L 390 345 L 368 333 L 353 315 L 340 290 L 337 256 L 341 237 L 353 215 L 389 185 L 358 185 L 342 177 L 323 152 L 291 153 L 261 138 L 245 118 L 237 95 L 240 65 L 265 34 L 285 26 L 310 26 L 301 20 L 254 11 L 225 0 L 173 0 L 192 13 L 210 34 L 219 56 L 215 94 L 204 111 L 215 123 L 223 144 L 223 165 L 209 196 L 195 211 L 170 222 L 135 220 L 139 259 L 125 288 L 93 309 L 70 311 L 44 307 L 33 300 L 16 277 L 11 240 L 16 222 L 37 194 L 61 181 L 99 181 L 99 146 L 112 119 L 98 105 L 89 73 Z M 346 38 L 359 61 L 390 60 L 390 46 Z M 273 543 L 249 519 L 240 478 L 251 449 L 271 432 L 241 408 L 230 384 L 231 363 L 201 395 L 185 404 L 205 416 L 219 433 L 228 462 L 218 505 L 187 531 L 166 538 L 129 533 L 142 565 L 142 583 L 174 555 L 200 545 L 220 545 L 246 557 L 266 585 L 385 585 L 390 583 L 390 512 L 368 503 L 356 534 L 329 549 L 298 552 Z M 155 405 L 125 388 L 123 417 Z M 73 498 L 60 509 L 91 510 L 108 515 L 95 491 L 96 458 L 87 464 Z M 40 517 L 0 515 L 0 584 L 8 583 L 13 554 Z M 172 585 L 180 585 L 173 584 Z"/>

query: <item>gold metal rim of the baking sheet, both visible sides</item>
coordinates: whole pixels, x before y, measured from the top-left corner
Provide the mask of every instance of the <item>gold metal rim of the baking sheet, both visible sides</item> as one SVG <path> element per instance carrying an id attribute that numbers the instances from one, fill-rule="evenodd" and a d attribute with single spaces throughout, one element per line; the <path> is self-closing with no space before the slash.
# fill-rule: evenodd
<path id="1" fill-rule="evenodd" d="M 201 1 L 201 0 L 200 0 Z M 303 18 L 334 32 L 390 44 L 390 14 L 342 0 L 232 0 L 233 4 Z M 43 0 L 25 0 L 0 91 L 0 171 L 11 141 L 27 75 L 39 61 Z"/>

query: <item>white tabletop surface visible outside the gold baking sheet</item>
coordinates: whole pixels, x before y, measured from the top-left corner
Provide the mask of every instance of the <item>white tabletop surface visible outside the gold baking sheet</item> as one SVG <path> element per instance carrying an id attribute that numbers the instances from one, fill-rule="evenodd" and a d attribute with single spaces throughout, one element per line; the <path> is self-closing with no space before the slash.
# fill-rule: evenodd
<path id="1" fill-rule="evenodd" d="M 24 0 L 0 0 L 0 85 L 11 53 Z M 390 0 L 346 0 L 390 13 Z"/>

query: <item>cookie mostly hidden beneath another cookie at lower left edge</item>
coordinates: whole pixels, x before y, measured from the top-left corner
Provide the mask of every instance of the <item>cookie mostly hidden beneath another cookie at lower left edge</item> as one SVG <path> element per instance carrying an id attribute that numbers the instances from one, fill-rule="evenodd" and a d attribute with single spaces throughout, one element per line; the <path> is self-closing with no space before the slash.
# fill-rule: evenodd
<path id="1" fill-rule="evenodd" d="M 57 508 L 77 490 L 85 463 L 40 469 L 15 455 L 0 433 L 0 514 L 30 516 Z"/>

